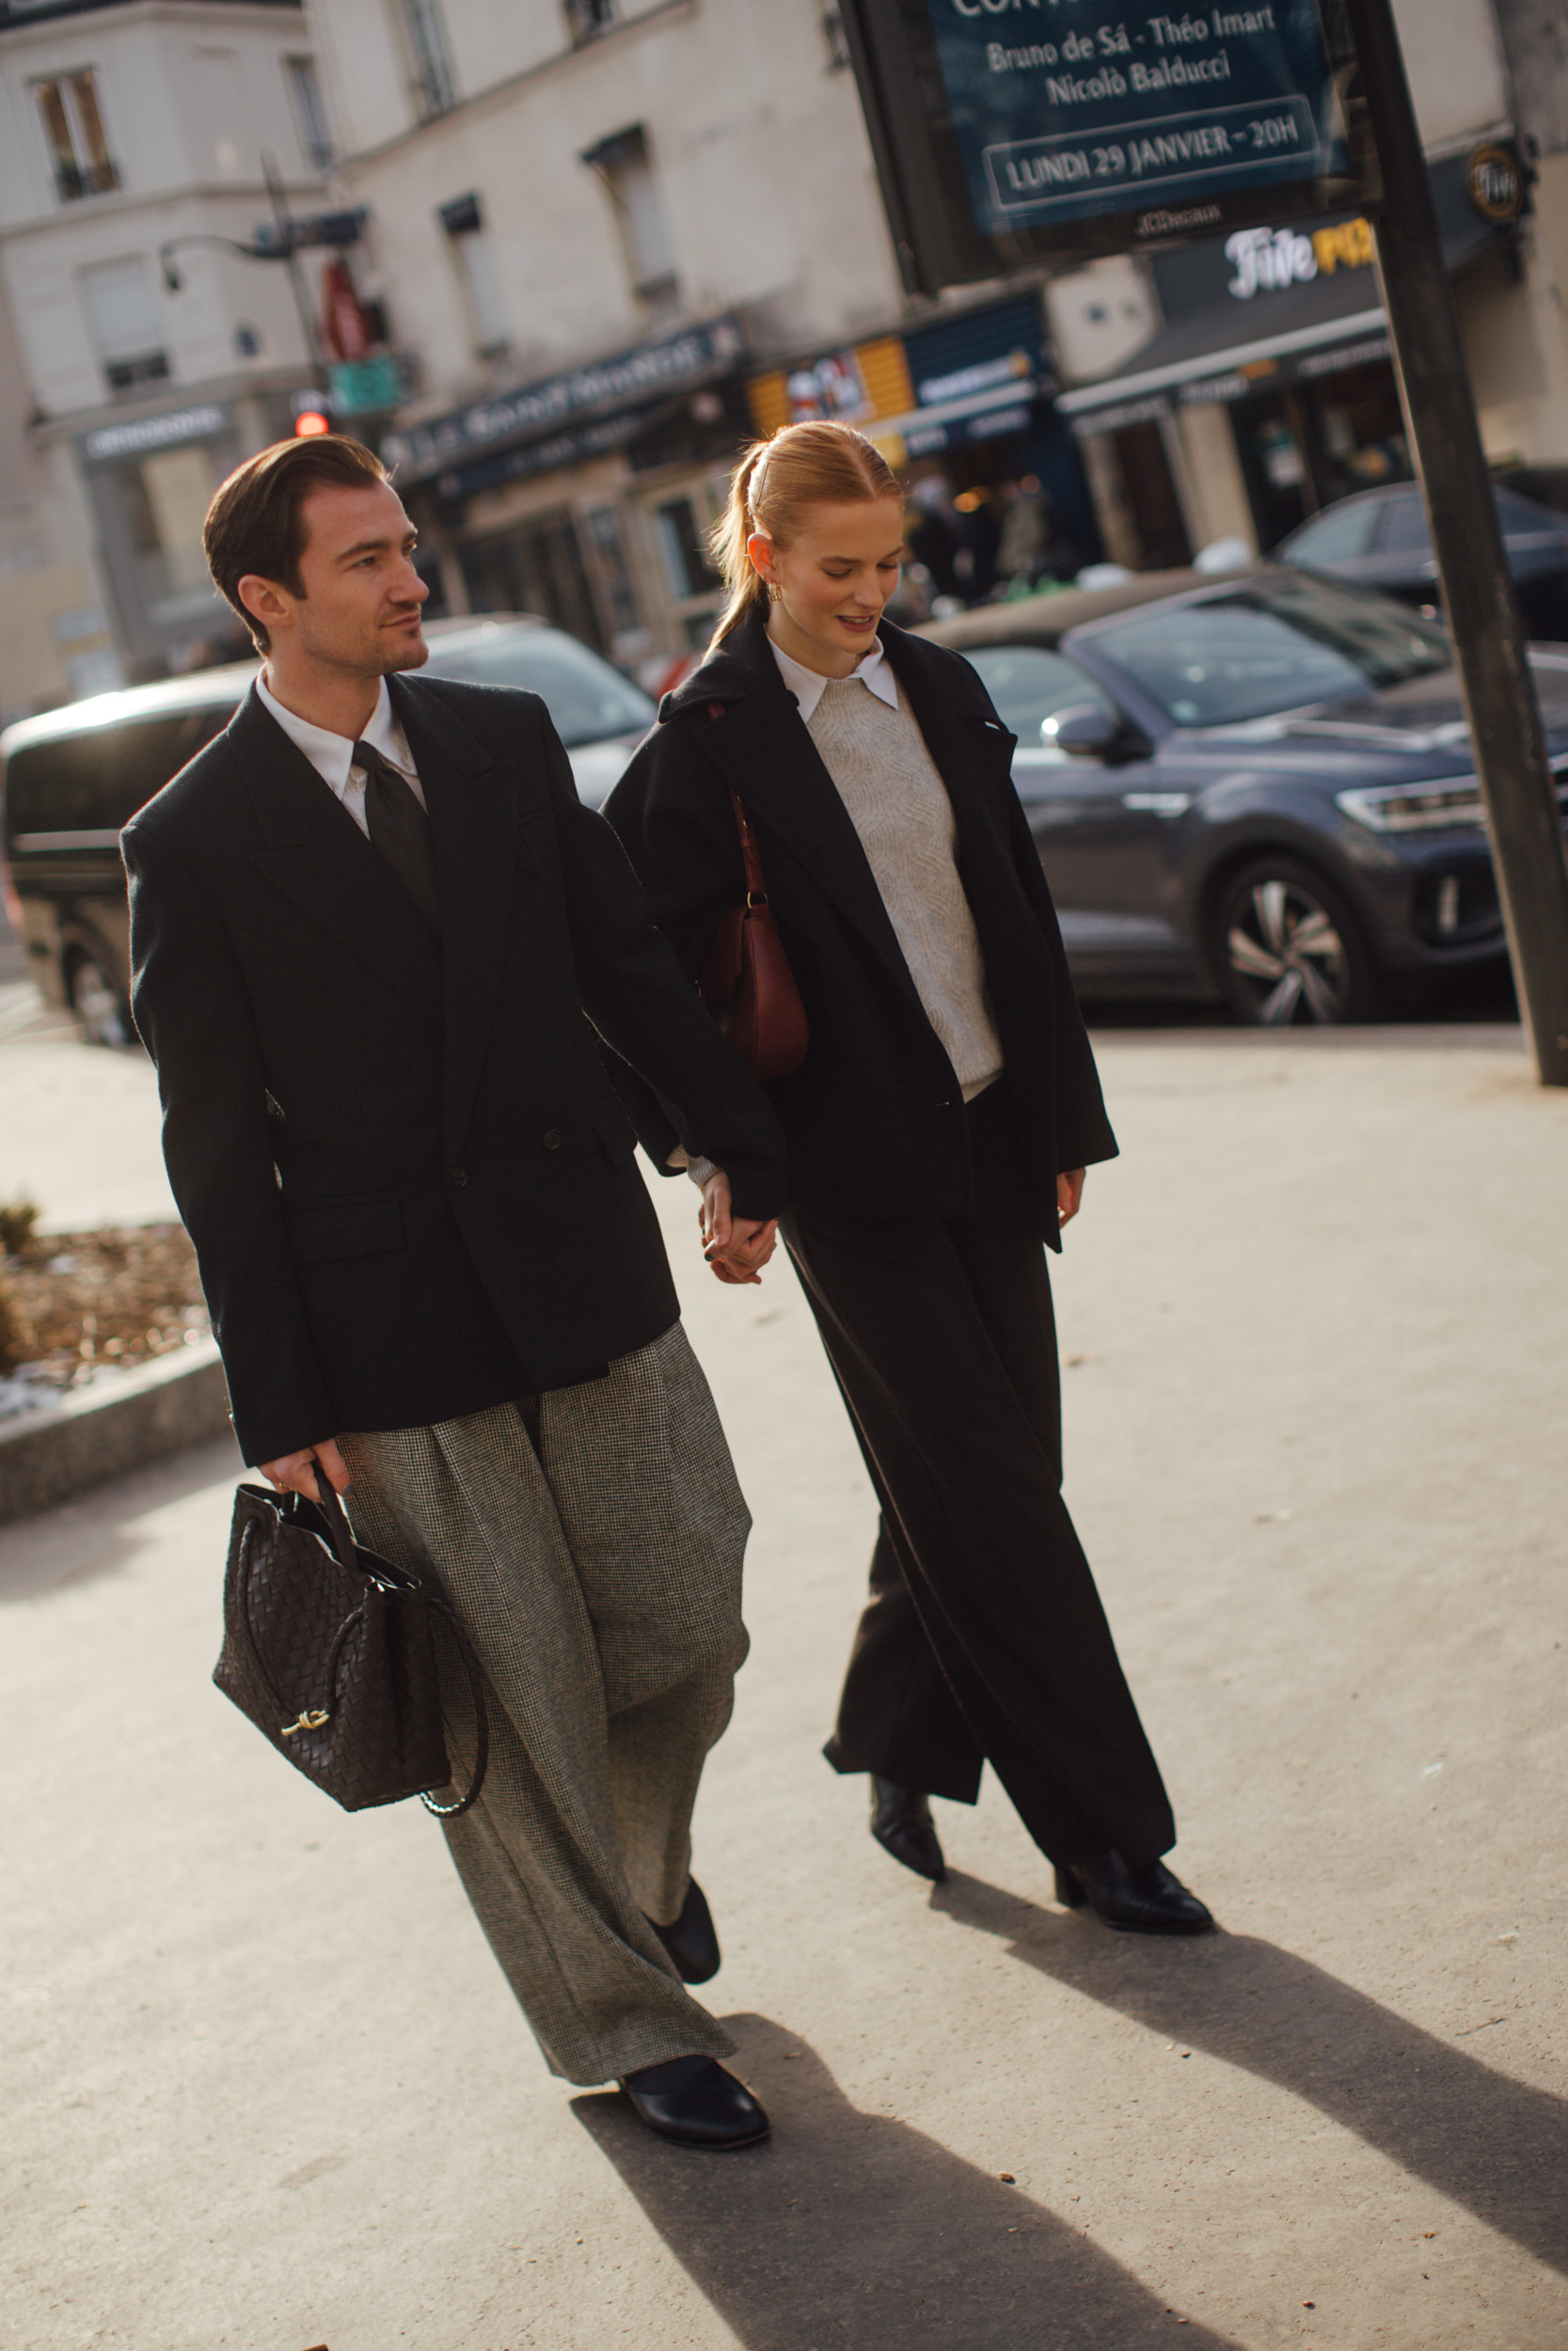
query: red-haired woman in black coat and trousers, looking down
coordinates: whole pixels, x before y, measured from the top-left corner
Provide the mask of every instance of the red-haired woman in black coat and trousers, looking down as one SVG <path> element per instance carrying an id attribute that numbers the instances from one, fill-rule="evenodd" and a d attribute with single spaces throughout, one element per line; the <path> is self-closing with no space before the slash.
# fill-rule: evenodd
<path id="1" fill-rule="evenodd" d="M 715 550 L 712 649 L 607 813 L 696 978 L 745 891 L 733 790 L 806 1009 L 806 1058 L 766 1089 L 780 1230 L 882 1502 L 827 1759 L 872 1777 L 872 1834 L 926 1878 L 926 1799 L 973 1803 L 990 1763 L 1058 1900 L 1201 1933 L 1060 1495 L 1041 1241 L 1117 1143 L 1013 738 L 966 661 L 884 621 L 903 494 L 849 426 L 755 444 Z"/>

